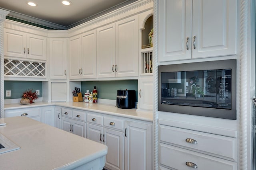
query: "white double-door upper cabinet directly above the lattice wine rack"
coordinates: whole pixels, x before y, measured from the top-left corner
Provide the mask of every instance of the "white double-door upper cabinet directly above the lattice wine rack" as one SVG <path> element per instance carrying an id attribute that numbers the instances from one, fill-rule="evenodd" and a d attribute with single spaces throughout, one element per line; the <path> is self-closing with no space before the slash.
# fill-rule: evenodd
<path id="1" fill-rule="evenodd" d="M 46 60 L 46 41 L 40 35 L 5 28 L 4 56 Z"/>

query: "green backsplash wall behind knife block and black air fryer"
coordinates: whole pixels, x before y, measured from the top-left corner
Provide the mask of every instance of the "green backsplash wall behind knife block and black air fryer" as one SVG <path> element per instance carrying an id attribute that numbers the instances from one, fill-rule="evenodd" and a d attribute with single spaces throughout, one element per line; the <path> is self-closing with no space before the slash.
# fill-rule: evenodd
<path id="1" fill-rule="evenodd" d="M 138 90 L 137 80 L 92 81 L 82 82 L 81 92 L 84 96 L 86 90 L 92 92 L 94 86 L 98 90 L 98 98 L 116 100 L 117 90 Z"/>

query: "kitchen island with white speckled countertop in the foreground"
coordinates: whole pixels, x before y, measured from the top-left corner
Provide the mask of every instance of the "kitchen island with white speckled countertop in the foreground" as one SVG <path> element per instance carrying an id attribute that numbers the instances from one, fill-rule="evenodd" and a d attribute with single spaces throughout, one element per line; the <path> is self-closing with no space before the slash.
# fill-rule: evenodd
<path id="1" fill-rule="evenodd" d="M 1 119 L 0 133 L 20 149 L 0 154 L 0 169 L 102 170 L 107 146 L 28 117 Z"/>

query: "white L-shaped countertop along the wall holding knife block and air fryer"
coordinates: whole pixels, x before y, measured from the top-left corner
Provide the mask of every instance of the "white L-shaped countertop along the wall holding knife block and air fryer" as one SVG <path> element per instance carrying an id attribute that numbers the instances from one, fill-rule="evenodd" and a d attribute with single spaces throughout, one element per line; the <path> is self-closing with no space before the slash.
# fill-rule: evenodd
<path id="1" fill-rule="evenodd" d="M 84 103 L 84 102 L 36 102 L 34 104 L 29 105 L 21 105 L 21 104 L 5 104 L 4 110 L 9 109 L 20 109 L 20 108 L 28 108 L 28 107 L 40 107 L 40 106 L 62 106 L 62 107 L 70 107 L 73 109 L 82 109 L 86 111 L 94 111 L 97 113 L 104 113 L 108 115 L 121 116 L 131 119 L 138 119 L 143 121 L 153 121 L 153 113 L 147 111 L 137 111 L 137 109 L 120 109 L 115 105 L 110 104 L 92 104 L 92 103 Z"/>

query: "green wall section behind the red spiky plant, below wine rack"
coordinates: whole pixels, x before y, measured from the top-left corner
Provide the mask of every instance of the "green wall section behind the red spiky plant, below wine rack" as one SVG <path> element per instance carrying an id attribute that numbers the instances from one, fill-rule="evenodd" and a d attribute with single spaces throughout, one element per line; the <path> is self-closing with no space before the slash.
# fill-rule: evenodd
<path id="1" fill-rule="evenodd" d="M 4 81 L 4 99 L 18 99 L 21 98 L 25 90 L 33 89 L 33 92 L 40 90 L 42 97 L 42 82 L 35 81 Z M 6 97 L 6 90 L 11 90 L 11 97 Z"/>

